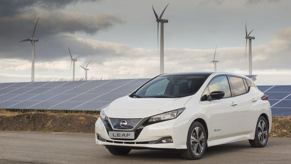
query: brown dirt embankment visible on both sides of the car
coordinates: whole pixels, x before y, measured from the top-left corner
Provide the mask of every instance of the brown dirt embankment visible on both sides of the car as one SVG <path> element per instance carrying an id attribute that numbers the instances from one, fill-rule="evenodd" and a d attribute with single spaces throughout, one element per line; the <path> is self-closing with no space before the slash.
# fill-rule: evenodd
<path id="1" fill-rule="evenodd" d="M 99 115 L 1 112 L 0 131 L 94 133 Z M 271 137 L 291 137 L 291 117 L 273 117 Z"/>

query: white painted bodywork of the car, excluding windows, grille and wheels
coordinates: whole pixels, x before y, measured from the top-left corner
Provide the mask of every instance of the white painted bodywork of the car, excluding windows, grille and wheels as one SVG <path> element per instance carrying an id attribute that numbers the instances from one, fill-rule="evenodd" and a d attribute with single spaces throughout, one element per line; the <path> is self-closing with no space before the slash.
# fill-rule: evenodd
<path id="1" fill-rule="evenodd" d="M 220 75 L 249 79 L 234 73 L 212 72 L 200 89 L 190 96 L 181 98 L 132 98 L 124 96 L 116 99 L 103 109 L 109 119 L 143 119 L 179 108 L 185 108 L 185 110 L 175 119 L 144 126 L 134 140 L 111 139 L 108 133 L 108 129 L 112 130 L 113 128 L 111 123 L 105 125 L 104 120 L 98 118 L 95 123 L 96 144 L 145 149 L 187 149 L 187 134 L 194 120 L 204 122 L 202 124 L 205 125 L 208 147 L 240 140 L 254 140 L 257 121 L 261 115 L 266 117 L 270 132 L 272 125 L 270 103 L 261 100 L 264 94 L 254 86 L 250 86 L 249 91 L 242 95 L 212 101 L 200 100 L 210 81 Z M 97 135 L 103 140 L 100 140 Z M 173 142 L 156 144 L 149 142 L 164 137 L 172 137 Z"/>

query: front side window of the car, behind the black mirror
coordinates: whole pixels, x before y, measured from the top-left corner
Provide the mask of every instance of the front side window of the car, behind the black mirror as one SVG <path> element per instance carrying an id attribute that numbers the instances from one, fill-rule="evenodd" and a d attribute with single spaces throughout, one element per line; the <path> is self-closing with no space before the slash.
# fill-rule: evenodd
<path id="1" fill-rule="evenodd" d="M 230 87 L 227 80 L 227 76 L 218 76 L 213 79 L 208 85 L 209 92 L 224 91 L 224 97 L 230 97 Z"/>

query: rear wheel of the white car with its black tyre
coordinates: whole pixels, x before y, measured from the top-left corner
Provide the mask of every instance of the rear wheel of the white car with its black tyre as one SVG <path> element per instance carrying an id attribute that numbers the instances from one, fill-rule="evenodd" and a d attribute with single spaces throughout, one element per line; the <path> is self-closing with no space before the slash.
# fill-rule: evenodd
<path id="1" fill-rule="evenodd" d="M 262 124 L 263 122 L 264 124 Z M 249 140 L 250 145 L 252 145 L 254 148 L 262 148 L 267 145 L 268 138 L 269 126 L 267 120 L 263 116 L 260 116 L 256 125 L 255 139 Z"/>

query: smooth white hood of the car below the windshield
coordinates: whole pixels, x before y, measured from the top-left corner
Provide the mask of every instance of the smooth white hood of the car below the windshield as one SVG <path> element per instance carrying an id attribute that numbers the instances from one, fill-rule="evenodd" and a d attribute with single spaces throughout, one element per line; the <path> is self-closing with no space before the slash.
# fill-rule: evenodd
<path id="1" fill-rule="evenodd" d="M 109 118 L 145 118 L 183 108 L 192 96 L 181 98 L 131 98 L 114 100 L 106 109 Z"/>

